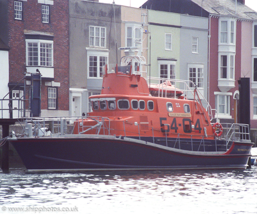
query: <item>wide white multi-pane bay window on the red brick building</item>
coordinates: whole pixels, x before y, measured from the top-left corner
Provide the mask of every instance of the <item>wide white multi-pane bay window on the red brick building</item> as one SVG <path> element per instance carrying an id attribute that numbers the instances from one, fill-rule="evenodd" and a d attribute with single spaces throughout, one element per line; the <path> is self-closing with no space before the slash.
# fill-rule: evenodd
<path id="1" fill-rule="evenodd" d="M 27 42 L 27 66 L 53 66 L 53 43 Z"/>

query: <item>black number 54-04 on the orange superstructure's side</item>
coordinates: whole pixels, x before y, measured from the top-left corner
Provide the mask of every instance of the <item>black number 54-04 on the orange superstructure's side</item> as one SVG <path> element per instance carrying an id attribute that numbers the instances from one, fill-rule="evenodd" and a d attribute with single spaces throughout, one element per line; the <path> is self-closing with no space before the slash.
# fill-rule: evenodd
<path id="1" fill-rule="evenodd" d="M 183 131 L 185 133 L 191 133 L 192 132 L 192 122 L 189 118 L 183 118 L 182 124 L 177 124 L 176 118 L 173 118 L 171 124 L 165 124 L 163 121 L 167 120 L 166 117 L 160 117 L 160 126 L 162 132 L 170 132 L 171 130 L 174 130 L 174 132 L 178 132 L 178 126 L 183 126 Z M 201 133 L 201 126 L 200 126 L 200 120 L 197 119 L 196 123 L 194 124 L 194 130 L 198 133 Z"/>

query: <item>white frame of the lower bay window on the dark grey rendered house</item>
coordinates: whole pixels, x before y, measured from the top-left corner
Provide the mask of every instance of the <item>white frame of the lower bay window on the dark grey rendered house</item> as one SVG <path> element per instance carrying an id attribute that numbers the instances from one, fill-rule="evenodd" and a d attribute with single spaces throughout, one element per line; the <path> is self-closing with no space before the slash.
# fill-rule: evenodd
<path id="1" fill-rule="evenodd" d="M 90 76 L 90 56 L 97 58 L 97 76 Z M 102 76 L 100 75 L 101 68 L 100 68 L 100 57 L 107 57 L 107 63 L 109 62 L 109 51 L 94 51 L 94 50 L 88 50 L 87 51 L 87 78 L 89 79 L 101 79 Z"/>

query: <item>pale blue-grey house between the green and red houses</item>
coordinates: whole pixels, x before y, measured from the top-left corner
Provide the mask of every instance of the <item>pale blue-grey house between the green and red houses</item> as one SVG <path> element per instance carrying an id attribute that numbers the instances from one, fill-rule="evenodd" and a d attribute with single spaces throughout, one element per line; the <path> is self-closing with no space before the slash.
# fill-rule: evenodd
<path id="1" fill-rule="evenodd" d="M 180 26 L 180 79 L 194 82 L 207 100 L 208 18 L 181 15 Z"/>

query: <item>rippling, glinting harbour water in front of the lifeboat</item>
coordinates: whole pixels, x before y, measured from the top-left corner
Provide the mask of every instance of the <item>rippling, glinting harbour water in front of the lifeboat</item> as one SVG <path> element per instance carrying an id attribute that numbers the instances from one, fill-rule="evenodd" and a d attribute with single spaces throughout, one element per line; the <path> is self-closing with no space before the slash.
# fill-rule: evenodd
<path id="1" fill-rule="evenodd" d="M 257 213 L 257 168 L 0 173 L 0 213 Z"/>

